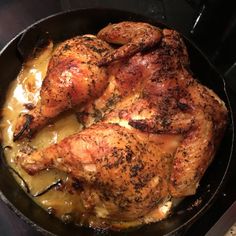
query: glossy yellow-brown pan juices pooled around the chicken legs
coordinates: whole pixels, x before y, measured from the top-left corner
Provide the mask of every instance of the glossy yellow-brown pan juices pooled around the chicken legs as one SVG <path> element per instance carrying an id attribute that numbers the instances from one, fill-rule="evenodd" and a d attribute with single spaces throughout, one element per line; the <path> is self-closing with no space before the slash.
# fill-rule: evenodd
<path id="1" fill-rule="evenodd" d="M 5 149 L 5 157 L 8 165 L 16 170 L 19 175 L 27 183 L 32 195 L 45 190 L 48 186 L 52 185 L 58 180 L 62 180 L 63 184 L 51 188 L 46 193 L 32 197 L 32 199 L 42 208 L 47 210 L 63 220 L 64 222 L 73 221 L 78 225 L 89 225 L 92 227 L 99 227 L 106 225 L 104 219 L 95 218 L 95 216 L 88 215 L 84 211 L 80 203 L 79 193 L 71 190 L 72 180 L 67 174 L 58 170 L 46 170 L 35 176 L 28 175 L 19 164 L 17 164 L 18 153 L 27 149 L 41 149 L 53 143 L 57 143 L 66 136 L 79 132 L 82 125 L 77 121 L 76 115 L 73 112 L 66 112 L 59 116 L 53 124 L 43 128 L 37 135 L 30 141 L 23 140 L 13 142 L 13 129 L 18 114 L 27 110 L 26 104 L 35 105 L 40 99 L 40 87 L 46 75 L 47 65 L 53 52 L 53 44 L 50 43 L 37 57 L 30 59 L 26 62 L 17 79 L 13 81 L 9 87 L 6 96 L 6 102 L 2 109 L 2 145 L 10 146 L 11 148 Z M 25 189 L 25 183 L 19 177 L 16 177 L 18 183 Z M 69 186 L 69 187 L 68 187 Z M 26 190 L 26 189 L 25 189 Z M 172 203 L 167 201 L 161 206 L 158 211 L 150 213 L 144 219 L 135 222 L 109 222 L 113 228 L 127 228 L 152 221 L 153 216 L 157 215 L 160 219 L 165 218 Z M 100 212 L 99 215 L 102 215 Z"/>

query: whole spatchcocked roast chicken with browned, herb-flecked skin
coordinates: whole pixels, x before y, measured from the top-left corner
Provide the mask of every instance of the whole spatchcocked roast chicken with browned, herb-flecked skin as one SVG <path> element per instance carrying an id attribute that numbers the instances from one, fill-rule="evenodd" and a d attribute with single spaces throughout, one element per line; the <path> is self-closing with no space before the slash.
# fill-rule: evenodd
<path id="1" fill-rule="evenodd" d="M 68 173 L 87 212 L 123 222 L 160 220 L 155 212 L 165 199 L 195 194 L 227 124 L 223 101 L 193 79 L 180 35 L 137 22 L 62 43 L 39 106 L 24 131 L 26 115 L 19 118 L 15 137 L 72 107 L 84 129 L 20 155 L 23 169 Z"/>

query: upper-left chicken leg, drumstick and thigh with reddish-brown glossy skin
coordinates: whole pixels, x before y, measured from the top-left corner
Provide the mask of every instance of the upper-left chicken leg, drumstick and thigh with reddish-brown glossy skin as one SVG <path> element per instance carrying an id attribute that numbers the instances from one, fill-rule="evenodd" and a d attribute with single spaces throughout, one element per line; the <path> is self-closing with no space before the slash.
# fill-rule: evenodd
<path id="1" fill-rule="evenodd" d="M 40 102 L 33 110 L 19 116 L 14 139 L 30 136 L 62 111 L 99 97 L 108 78 L 105 68 L 98 67 L 97 63 L 110 50 L 106 42 L 92 35 L 63 42 L 50 60 L 40 91 Z M 24 130 L 27 119 L 30 121 Z"/>

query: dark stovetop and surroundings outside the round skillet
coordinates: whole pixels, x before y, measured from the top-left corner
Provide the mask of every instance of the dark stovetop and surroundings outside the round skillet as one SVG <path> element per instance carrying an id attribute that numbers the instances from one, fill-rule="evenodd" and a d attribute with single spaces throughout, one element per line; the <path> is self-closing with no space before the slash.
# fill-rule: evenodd
<path id="1" fill-rule="evenodd" d="M 236 103 L 234 2 L 229 0 L 0 0 L 0 49 L 25 27 L 57 12 L 95 7 L 132 11 L 164 22 L 192 39 L 217 70 L 224 75 L 231 101 Z M 235 201 L 236 174 L 233 168 L 229 172 L 228 181 L 215 204 L 191 227 L 191 230 L 183 233 L 184 235 L 205 235 Z M 0 235 L 37 236 L 40 234 L 18 219 L 0 202 Z M 218 235 L 221 235 L 220 232 Z"/>

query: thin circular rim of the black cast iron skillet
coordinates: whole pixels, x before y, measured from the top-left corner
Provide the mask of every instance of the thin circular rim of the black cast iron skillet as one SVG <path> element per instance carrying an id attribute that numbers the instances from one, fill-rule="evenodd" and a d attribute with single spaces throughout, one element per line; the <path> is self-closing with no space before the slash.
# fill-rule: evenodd
<path id="1" fill-rule="evenodd" d="M 48 21 L 52 18 L 55 17 L 60 17 L 60 16 L 66 16 L 66 15 L 70 15 L 70 14 L 79 14 L 79 12 L 86 12 L 86 11 L 94 11 L 94 10 L 99 10 L 99 11 L 113 11 L 113 12 L 119 12 L 119 13 L 125 13 L 127 15 L 131 15 L 131 17 L 137 17 L 137 18 L 145 18 L 148 22 L 151 22 L 151 24 L 154 25 L 159 25 L 162 27 L 166 27 L 166 28 L 172 28 L 169 27 L 168 25 L 166 25 L 163 22 L 159 22 L 158 20 L 155 20 L 151 17 L 147 17 L 145 15 L 141 15 L 135 12 L 131 12 L 131 11 L 125 11 L 125 10 L 119 10 L 119 9 L 115 9 L 115 8 L 99 8 L 99 7 L 95 7 L 95 8 L 77 8 L 77 9 L 70 9 L 70 10 L 66 10 L 66 11 L 62 11 L 62 12 L 57 12 L 54 14 L 51 14 L 49 16 L 46 16 L 42 19 L 39 19 L 38 21 L 35 21 L 33 24 L 27 26 L 25 29 L 23 29 L 21 32 L 19 32 L 18 34 L 16 34 L 0 51 L 0 57 L 2 56 L 2 54 L 8 49 L 8 47 L 13 44 L 16 40 L 18 40 L 18 43 L 21 41 L 21 39 L 24 37 L 24 35 L 30 31 L 31 29 L 33 29 L 34 27 L 37 27 L 40 23 Z M 173 28 L 174 29 L 174 28 Z M 226 84 L 225 84 L 225 80 L 224 77 L 218 72 L 217 68 L 212 64 L 211 60 L 205 55 L 205 53 L 196 45 L 196 43 L 194 43 L 191 39 L 189 39 L 189 37 L 186 37 L 184 34 L 181 33 L 181 36 L 187 40 L 187 42 L 191 45 L 192 48 L 194 48 L 198 54 L 204 58 L 204 60 L 207 62 L 209 68 L 211 68 L 214 71 L 214 74 L 217 74 L 217 76 L 220 78 L 221 82 L 223 83 L 223 91 L 224 91 L 224 95 L 226 97 L 226 100 L 224 100 L 224 102 L 227 105 L 228 111 L 229 111 L 229 125 L 231 125 L 232 127 L 232 144 L 231 144 L 231 148 L 230 148 L 230 153 L 229 153 L 229 158 L 228 158 L 228 163 L 227 166 L 224 170 L 224 175 L 221 177 L 221 181 L 218 184 L 218 187 L 214 190 L 214 193 L 211 195 L 210 198 L 208 198 L 207 202 L 204 203 L 203 206 L 201 206 L 200 210 L 197 213 L 194 213 L 194 215 L 192 217 L 190 217 L 185 223 L 181 223 L 179 227 L 175 228 L 174 230 L 172 230 L 171 232 L 167 233 L 166 235 L 172 235 L 175 232 L 178 232 L 181 229 L 186 228 L 186 226 L 191 226 L 194 221 L 196 221 L 204 212 L 207 211 L 208 208 L 211 207 L 211 205 L 213 204 L 214 200 L 217 198 L 217 195 L 219 194 L 219 190 L 223 187 L 223 184 L 225 182 L 226 176 L 228 174 L 228 170 L 229 170 L 229 166 L 232 162 L 232 154 L 234 151 L 234 143 L 235 143 L 235 128 L 234 128 L 234 116 L 233 116 L 233 111 L 232 111 L 232 107 L 231 107 L 231 102 L 230 102 L 230 98 L 228 96 L 227 93 L 227 89 L 226 89 Z M 18 44 L 17 43 L 17 44 Z M 1 147 L 2 149 L 2 147 Z M 1 164 L 1 160 L 0 160 L 0 164 Z M 33 222 L 33 220 L 29 219 L 27 216 L 25 216 L 11 201 L 8 200 L 8 198 L 2 193 L 2 191 L 0 190 L 0 198 L 1 200 L 20 218 L 22 219 L 24 222 L 26 222 L 27 224 L 29 224 L 30 226 L 32 226 L 33 228 L 35 228 L 37 231 L 43 233 L 44 235 L 55 235 L 54 233 L 49 232 L 48 230 L 46 230 L 45 228 L 41 227 L 40 225 L 36 224 Z M 31 200 L 32 201 L 32 200 Z M 190 224 L 191 223 L 191 224 Z M 155 223 L 154 223 L 155 224 Z M 151 224 L 150 224 L 151 225 Z M 150 226 L 149 225 L 149 226 Z"/>

